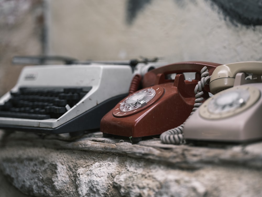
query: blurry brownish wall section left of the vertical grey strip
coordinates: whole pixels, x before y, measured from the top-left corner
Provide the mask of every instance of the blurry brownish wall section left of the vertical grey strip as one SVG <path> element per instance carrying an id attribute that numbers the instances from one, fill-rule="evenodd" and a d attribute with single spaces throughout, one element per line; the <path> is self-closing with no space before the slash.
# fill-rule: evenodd
<path id="1" fill-rule="evenodd" d="M 12 65 L 16 55 L 40 55 L 43 1 L 0 0 L 0 96 L 17 82 L 23 66 Z"/>

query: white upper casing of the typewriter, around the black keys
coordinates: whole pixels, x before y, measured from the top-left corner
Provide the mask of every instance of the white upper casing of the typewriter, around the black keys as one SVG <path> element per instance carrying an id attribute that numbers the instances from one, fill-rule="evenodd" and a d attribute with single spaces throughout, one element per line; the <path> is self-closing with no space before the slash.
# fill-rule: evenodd
<path id="1" fill-rule="evenodd" d="M 34 127 L 40 128 L 39 132 L 43 132 L 41 128 L 57 128 L 110 98 L 127 95 L 131 80 L 132 69 L 128 65 L 26 66 L 21 71 L 17 84 L 11 90 L 12 92 L 18 91 L 20 87 L 81 87 L 83 89 L 91 87 L 91 90 L 77 104 L 70 106 L 71 108 L 59 118 L 34 120 L 0 117 L 0 128 L 6 129 L 7 127 L 19 130 L 23 127 Z M 3 95 L 0 98 L 0 105 L 3 105 L 10 97 L 10 92 Z M 112 107 L 114 106 L 109 108 Z M 89 124 L 88 120 L 86 120 L 86 124 Z M 13 126 L 15 127 L 13 128 Z M 50 133 L 50 130 L 47 133 Z M 61 133 L 61 131 L 58 133 Z"/>

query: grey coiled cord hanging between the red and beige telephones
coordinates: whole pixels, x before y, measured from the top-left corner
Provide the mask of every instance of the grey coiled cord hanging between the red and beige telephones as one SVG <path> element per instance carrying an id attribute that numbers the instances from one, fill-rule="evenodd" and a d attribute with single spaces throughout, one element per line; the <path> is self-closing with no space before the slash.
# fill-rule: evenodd
<path id="1" fill-rule="evenodd" d="M 189 116 L 191 116 L 198 109 L 198 107 L 202 105 L 201 102 L 204 100 L 204 98 L 201 97 L 204 94 L 202 89 L 204 89 L 205 85 L 210 81 L 211 76 L 209 76 L 209 72 L 206 66 L 204 66 L 204 68 L 201 69 L 200 74 L 201 74 L 201 80 L 198 82 L 194 90 L 195 98 L 196 98 L 195 104 Z M 176 128 L 169 129 L 163 132 L 160 135 L 161 142 L 164 144 L 185 144 L 185 139 L 183 135 L 185 122 Z"/>

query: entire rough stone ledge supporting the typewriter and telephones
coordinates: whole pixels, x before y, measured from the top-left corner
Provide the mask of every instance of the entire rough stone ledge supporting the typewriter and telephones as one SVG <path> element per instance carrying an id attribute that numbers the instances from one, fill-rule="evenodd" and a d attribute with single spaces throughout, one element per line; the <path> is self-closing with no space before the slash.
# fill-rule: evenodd
<path id="1" fill-rule="evenodd" d="M 8 180 L 31 196 L 261 196 L 261 149 L 15 132 L 2 136 L 0 159 Z"/>

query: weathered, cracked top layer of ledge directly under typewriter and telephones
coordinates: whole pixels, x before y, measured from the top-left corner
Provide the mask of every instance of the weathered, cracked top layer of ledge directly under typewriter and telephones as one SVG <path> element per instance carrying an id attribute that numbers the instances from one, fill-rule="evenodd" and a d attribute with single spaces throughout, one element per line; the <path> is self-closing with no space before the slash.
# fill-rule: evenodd
<path id="1" fill-rule="evenodd" d="M 129 157 L 171 164 L 179 168 L 199 168 L 202 165 L 239 165 L 262 169 L 262 142 L 224 148 L 194 147 L 162 144 L 157 138 L 137 144 L 122 139 L 103 138 L 101 132 L 86 134 L 71 140 L 61 135 L 16 132 L 4 139 L 5 147 L 46 147 L 53 149 L 80 150 L 95 153 L 127 155 Z M 120 141 L 120 142 L 119 142 Z"/>

